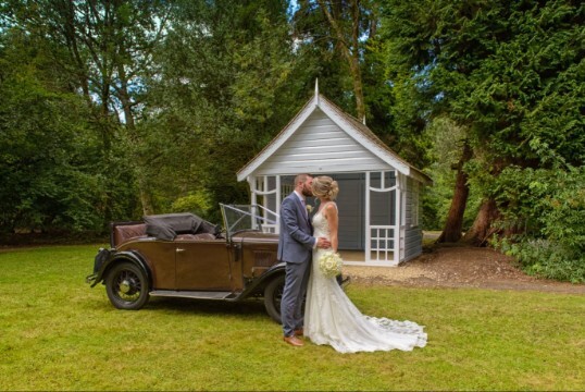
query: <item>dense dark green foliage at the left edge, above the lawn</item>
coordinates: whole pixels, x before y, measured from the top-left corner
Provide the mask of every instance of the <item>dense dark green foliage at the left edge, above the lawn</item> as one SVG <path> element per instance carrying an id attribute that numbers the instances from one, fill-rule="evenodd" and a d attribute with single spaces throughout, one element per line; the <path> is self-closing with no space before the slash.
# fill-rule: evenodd
<path id="1" fill-rule="evenodd" d="M 87 121 L 91 111 L 58 75 L 43 40 L 14 29 L 3 44 L 0 228 L 100 231 L 107 182 Z"/>

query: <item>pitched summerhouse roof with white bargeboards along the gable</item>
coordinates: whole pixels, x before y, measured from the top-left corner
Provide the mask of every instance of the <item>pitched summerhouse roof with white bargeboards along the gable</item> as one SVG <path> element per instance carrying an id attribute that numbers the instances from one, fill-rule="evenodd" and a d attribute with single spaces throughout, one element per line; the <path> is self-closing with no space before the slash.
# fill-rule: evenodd
<path id="1" fill-rule="evenodd" d="M 246 180 L 249 175 L 253 174 L 266 159 L 273 156 L 296 133 L 318 108 L 335 122 L 337 126 L 345 131 L 348 136 L 353 138 L 365 149 L 370 150 L 382 161 L 396 168 L 400 173 L 414 177 L 424 184 L 430 185 L 433 183 L 430 176 L 400 158 L 400 156 L 385 145 L 384 142 L 382 142 L 368 126 L 352 115 L 345 113 L 339 107 L 318 91 L 315 91 L 315 95 L 304 105 L 297 115 L 290 120 L 281 133 L 278 133 L 271 143 L 238 171 L 238 181 Z"/>

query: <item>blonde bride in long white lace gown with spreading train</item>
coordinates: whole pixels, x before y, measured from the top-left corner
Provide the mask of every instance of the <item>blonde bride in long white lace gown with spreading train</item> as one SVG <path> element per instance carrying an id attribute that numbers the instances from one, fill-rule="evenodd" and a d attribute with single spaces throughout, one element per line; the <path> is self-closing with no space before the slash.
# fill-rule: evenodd
<path id="1" fill-rule="evenodd" d="M 313 217 L 314 236 L 329 238 L 337 252 L 338 213 L 333 201 L 339 192 L 328 176 L 313 180 L 313 195 L 321 200 Z M 319 258 L 327 249 L 313 250 L 313 264 L 304 308 L 304 336 L 315 344 L 328 344 L 340 353 L 402 350 L 426 345 L 423 327 L 412 321 L 364 316 L 347 297 L 335 278 L 320 270 Z"/>

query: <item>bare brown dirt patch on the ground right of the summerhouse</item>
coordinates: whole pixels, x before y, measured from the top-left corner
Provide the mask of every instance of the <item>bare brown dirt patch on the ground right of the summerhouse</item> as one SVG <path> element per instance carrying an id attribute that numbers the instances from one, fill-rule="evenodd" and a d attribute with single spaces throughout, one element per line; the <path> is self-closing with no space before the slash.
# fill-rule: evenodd
<path id="1" fill-rule="evenodd" d="M 482 287 L 585 294 L 585 284 L 537 279 L 522 272 L 511 257 L 490 248 L 436 247 L 394 268 L 346 266 L 352 282 L 414 287 Z"/>

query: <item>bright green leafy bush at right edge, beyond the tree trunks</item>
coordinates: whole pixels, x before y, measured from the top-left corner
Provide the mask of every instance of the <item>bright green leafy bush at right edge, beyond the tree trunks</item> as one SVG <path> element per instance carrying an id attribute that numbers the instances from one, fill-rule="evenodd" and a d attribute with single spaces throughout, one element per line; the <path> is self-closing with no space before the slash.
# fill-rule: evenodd
<path id="1" fill-rule="evenodd" d="M 521 234 L 496 242 L 525 270 L 545 278 L 585 282 L 585 168 L 508 168 L 498 183 L 507 203 L 499 223 Z M 509 200 L 514 200 L 513 205 Z M 513 230 L 515 231 L 515 230 Z"/>

